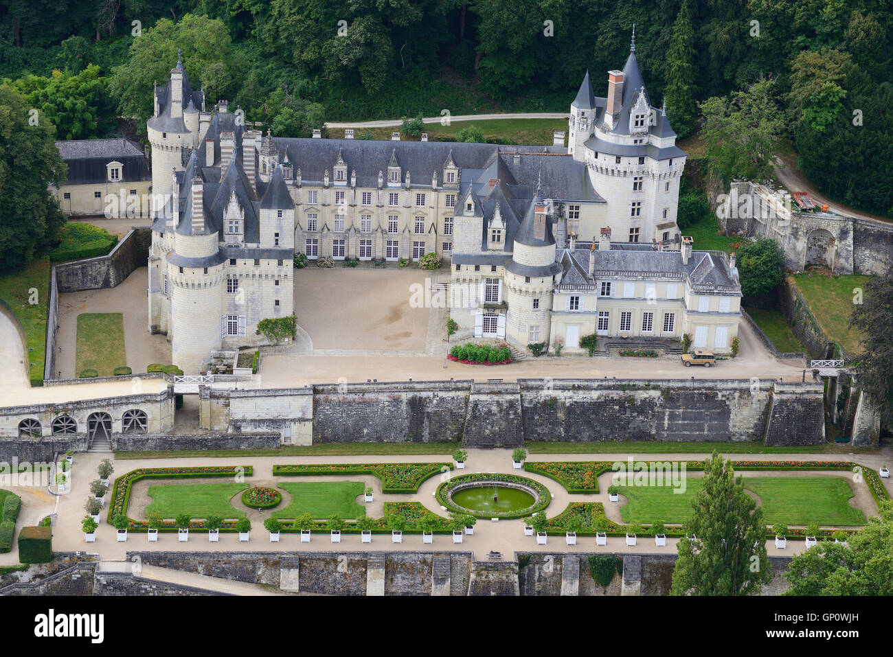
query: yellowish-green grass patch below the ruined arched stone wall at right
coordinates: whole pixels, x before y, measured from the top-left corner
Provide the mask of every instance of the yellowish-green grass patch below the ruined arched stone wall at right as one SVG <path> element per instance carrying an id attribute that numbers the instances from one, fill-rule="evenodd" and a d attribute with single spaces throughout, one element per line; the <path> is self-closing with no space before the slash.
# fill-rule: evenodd
<path id="1" fill-rule="evenodd" d="M 822 332 L 842 346 L 847 356 L 858 353 L 862 334 L 848 326 L 853 314 L 854 289 L 864 290 L 865 283 L 872 277 L 803 273 L 792 274 L 792 278 Z"/>

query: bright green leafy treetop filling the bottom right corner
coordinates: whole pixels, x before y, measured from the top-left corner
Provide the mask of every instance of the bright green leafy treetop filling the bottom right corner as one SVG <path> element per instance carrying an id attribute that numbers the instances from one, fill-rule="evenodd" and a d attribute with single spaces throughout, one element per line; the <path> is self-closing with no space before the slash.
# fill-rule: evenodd
<path id="1" fill-rule="evenodd" d="M 822 541 L 794 556 L 785 595 L 893 595 L 893 503 L 847 539 Z"/>

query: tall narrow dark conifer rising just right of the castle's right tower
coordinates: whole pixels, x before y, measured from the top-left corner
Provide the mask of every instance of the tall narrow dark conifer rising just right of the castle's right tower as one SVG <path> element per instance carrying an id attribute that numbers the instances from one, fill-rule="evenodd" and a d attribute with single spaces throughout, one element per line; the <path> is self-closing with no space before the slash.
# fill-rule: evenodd
<path id="1" fill-rule="evenodd" d="M 695 119 L 695 29 L 689 0 L 682 0 L 667 51 L 666 99 L 670 124 L 679 137 L 691 132 Z"/>

